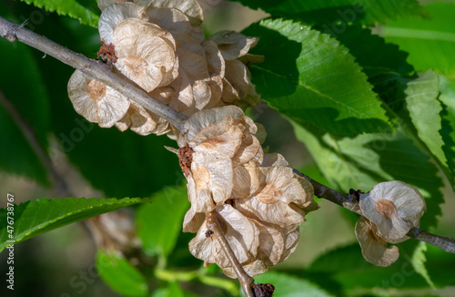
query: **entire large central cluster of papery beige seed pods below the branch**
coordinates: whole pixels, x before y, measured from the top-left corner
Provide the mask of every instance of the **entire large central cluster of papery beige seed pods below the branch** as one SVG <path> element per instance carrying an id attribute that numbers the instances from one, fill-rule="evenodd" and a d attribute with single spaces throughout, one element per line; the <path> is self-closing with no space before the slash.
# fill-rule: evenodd
<path id="1" fill-rule="evenodd" d="M 214 235 L 207 233 L 204 212 L 216 210 L 226 234 L 230 230 L 223 221 L 242 226 L 238 238 L 248 242 L 228 241 L 234 244 L 243 268 L 254 276 L 295 251 L 298 225 L 306 211 L 317 209 L 309 181 L 296 175 L 281 155 L 264 158 L 256 133 L 258 127 L 240 108 L 223 107 L 194 114 L 177 139 L 179 151 L 191 150 L 190 166 L 182 157 L 186 154 L 179 153 L 191 201 L 184 231 L 197 230 L 190 251 L 206 264 L 216 262 L 232 278 L 236 273 Z M 251 234 L 244 234 L 251 224 L 257 234 L 255 243 L 250 243 Z"/>

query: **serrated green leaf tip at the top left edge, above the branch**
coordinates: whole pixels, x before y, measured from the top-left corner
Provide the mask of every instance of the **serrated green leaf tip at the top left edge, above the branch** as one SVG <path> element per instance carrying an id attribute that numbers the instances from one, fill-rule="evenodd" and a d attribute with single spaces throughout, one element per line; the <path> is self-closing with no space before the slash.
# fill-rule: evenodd
<path id="1" fill-rule="evenodd" d="M 45 8 L 50 12 L 56 12 L 58 15 L 68 15 L 76 18 L 81 24 L 97 27 L 99 15 L 101 12 L 94 9 L 94 5 L 81 5 L 76 0 L 21 0 L 28 5 L 35 5 L 39 8 Z"/>

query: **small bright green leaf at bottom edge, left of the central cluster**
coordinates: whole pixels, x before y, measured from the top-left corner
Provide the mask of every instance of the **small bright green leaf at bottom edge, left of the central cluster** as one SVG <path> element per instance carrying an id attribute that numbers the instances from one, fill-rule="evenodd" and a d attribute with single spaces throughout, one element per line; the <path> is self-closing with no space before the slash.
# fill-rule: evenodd
<path id="1" fill-rule="evenodd" d="M 116 251 L 98 250 L 96 270 L 112 290 L 123 296 L 147 296 L 144 275 Z"/>

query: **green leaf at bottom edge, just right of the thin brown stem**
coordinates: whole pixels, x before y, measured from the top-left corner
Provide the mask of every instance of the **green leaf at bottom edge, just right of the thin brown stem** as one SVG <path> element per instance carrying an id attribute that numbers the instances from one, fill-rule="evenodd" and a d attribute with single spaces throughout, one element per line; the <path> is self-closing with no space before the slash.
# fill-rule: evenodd
<path id="1" fill-rule="evenodd" d="M 268 271 L 255 277 L 255 282 L 271 283 L 275 286 L 274 297 L 329 297 L 333 296 L 313 282 L 285 273 Z"/>

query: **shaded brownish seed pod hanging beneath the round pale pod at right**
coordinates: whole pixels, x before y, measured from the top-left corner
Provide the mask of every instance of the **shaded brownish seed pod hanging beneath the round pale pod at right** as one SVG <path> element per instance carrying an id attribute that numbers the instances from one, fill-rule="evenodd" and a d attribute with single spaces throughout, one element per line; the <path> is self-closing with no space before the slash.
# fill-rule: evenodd
<path id="1" fill-rule="evenodd" d="M 396 246 L 387 247 L 387 241 L 379 236 L 377 227 L 368 219 L 359 217 L 356 223 L 356 237 L 359 240 L 363 258 L 371 264 L 387 267 L 399 258 Z"/>

